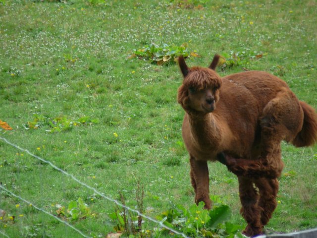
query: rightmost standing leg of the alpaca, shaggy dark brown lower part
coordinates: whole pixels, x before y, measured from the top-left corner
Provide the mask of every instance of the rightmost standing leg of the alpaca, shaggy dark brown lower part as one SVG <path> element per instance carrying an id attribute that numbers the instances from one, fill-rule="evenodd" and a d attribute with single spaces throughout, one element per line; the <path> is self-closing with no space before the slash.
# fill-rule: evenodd
<path id="1" fill-rule="evenodd" d="M 258 205 L 262 208 L 261 223 L 265 226 L 272 217 L 272 213 L 277 206 L 276 196 L 278 192 L 278 180 L 260 178 L 255 180 L 255 184 L 260 192 Z"/>

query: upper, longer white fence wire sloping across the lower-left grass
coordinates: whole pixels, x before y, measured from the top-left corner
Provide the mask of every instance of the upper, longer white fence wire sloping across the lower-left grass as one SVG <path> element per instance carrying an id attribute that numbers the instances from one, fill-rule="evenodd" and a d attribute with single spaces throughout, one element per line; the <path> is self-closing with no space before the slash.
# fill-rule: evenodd
<path id="1" fill-rule="evenodd" d="M 36 159 L 38 159 L 38 160 L 40 160 L 40 161 L 42 161 L 42 162 L 44 162 L 44 163 L 46 163 L 46 164 L 49 164 L 49 165 L 52 166 L 55 170 L 57 170 L 57 171 L 61 172 L 62 174 L 66 175 L 66 176 L 68 176 L 68 177 L 70 177 L 70 178 L 72 178 L 72 179 L 75 180 L 77 183 L 79 183 L 79 184 L 81 184 L 81 185 L 87 187 L 88 189 L 93 190 L 96 194 L 100 195 L 101 197 L 105 198 L 106 200 L 108 200 L 108 201 L 110 201 L 110 202 L 114 202 L 114 203 L 117 204 L 119 207 L 122 207 L 122 208 L 124 208 L 124 209 L 126 209 L 126 210 L 129 210 L 129 211 L 131 211 L 131 212 L 133 212 L 133 213 L 136 213 L 136 214 L 138 214 L 138 216 L 141 216 L 141 217 L 143 217 L 143 218 L 145 218 L 145 219 L 147 219 L 147 220 L 149 220 L 149 221 L 151 221 L 151 222 L 153 222 L 153 223 L 159 224 L 160 227 L 165 228 L 166 230 L 169 230 L 170 232 L 172 232 L 172 233 L 174 233 L 174 234 L 180 235 L 180 236 L 182 236 L 182 237 L 184 237 L 184 238 L 189 238 L 189 237 L 187 237 L 184 233 L 181 233 L 181 232 L 179 232 L 179 231 L 176 231 L 176 230 L 174 230 L 174 229 L 172 229 L 172 228 L 169 228 L 169 227 L 165 226 L 165 225 L 163 224 L 163 221 L 157 221 L 157 220 L 155 220 L 155 219 L 153 219 L 153 218 L 151 218 L 151 217 L 148 217 L 148 216 L 146 216 L 146 215 L 140 213 L 138 210 L 135 210 L 135 209 L 130 208 L 130 207 L 126 206 L 126 205 L 123 205 L 123 204 L 121 204 L 120 202 L 118 202 L 117 200 L 115 200 L 115 199 L 113 199 L 113 198 L 110 198 L 110 197 L 104 195 L 103 193 L 101 193 L 100 191 L 98 191 L 96 188 L 89 186 L 88 184 L 86 184 L 86 183 L 80 181 L 79 179 L 75 178 L 73 175 L 68 174 L 66 171 L 64 171 L 64 170 L 62 170 L 62 169 L 60 169 L 60 168 L 58 168 L 58 167 L 55 166 L 52 162 L 47 161 L 47 160 L 42 159 L 41 157 L 39 157 L 39 156 L 37 156 L 37 155 L 32 154 L 32 153 L 31 153 L 30 151 L 28 151 L 27 149 L 23 149 L 23 148 L 21 148 L 21 147 L 15 145 L 15 144 L 9 142 L 7 139 L 5 139 L 5 138 L 3 138 L 3 137 L 0 137 L 0 139 L 3 140 L 5 143 L 7 143 L 7 144 L 9 144 L 9 145 L 11 145 L 11 146 L 13 146 L 13 147 L 15 147 L 16 149 L 18 149 L 18 150 L 20 150 L 20 151 L 24 151 L 24 152 L 26 152 L 27 154 L 31 155 L 32 157 L 34 157 L 34 158 L 36 158 Z M 0 187 L 3 188 L 3 186 L 0 186 Z M 12 193 L 11 193 L 11 194 L 12 194 Z M 20 197 L 18 197 L 18 198 L 20 198 Z M 27 201 L 24 200 L 23 198 L 22 198 L 22 200 L 25 201 L 25 202 L 27 202 Z M 44 211 L 44 210 L 43 210 L 43 211 Z M 52 215 L 52 214 L 50 214 L 50 215 Z M 53 215 L 52 215 L 52 216 L 53 216 Z M 83 234 L 82 234 L 82 235 L 83 235 Z M 85 236 L 85 235 L 84 235 L 84 236 Z M 86 237 L 87 237 L 87 236 L 86 236 Z"/>

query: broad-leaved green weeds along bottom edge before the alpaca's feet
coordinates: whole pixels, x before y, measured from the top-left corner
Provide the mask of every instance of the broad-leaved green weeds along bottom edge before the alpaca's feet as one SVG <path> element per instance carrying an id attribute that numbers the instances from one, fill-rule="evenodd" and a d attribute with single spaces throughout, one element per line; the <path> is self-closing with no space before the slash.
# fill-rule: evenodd
<path id="1" fill-rule="evenodd" d="M 121 195 L 121 194 L 120 194 Z M 142 199 L 137 198 L 138 207 L 142 205 Z M 123 196 L 121 202 L 124 204 Z M 140 204 L 139 204 L 140 203 Z M 212 210 L 204 209 L 204 202 L 200 202 L 198 206 L 193 204 L 189 209 L 182 205 L 175 205 L 157 217 L 166 227 L 185 234 L 192 238 L 245 238 L 240 233 L 242 226 L 230 222 L 231 210 L 229 206 L 220 204 L 214 206 Z M 142 231 L 140 217 L 133 216 L 131 213 L 123 209 L 117 209 L 109 214 L 109 217 L 114 224 L 115 232 L 121 232 L 127 237 L 138 235 L 137 237 L 182 237 L 181 235 L 173 234 L 165 228 L 152 229 Z M 136 225 L 138 224 L 138 225 Z M 137 232 L 139 231 L 139 233 Z"/>

